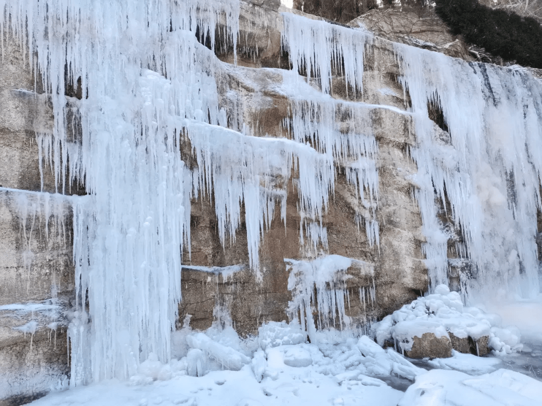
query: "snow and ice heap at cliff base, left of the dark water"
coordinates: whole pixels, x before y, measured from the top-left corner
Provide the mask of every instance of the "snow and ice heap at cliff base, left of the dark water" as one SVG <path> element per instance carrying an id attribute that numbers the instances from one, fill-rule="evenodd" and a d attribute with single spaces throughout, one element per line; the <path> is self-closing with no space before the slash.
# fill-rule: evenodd
<path id="1" fill-rule="evenodd" d="M 362 373 L 366 372 L 363 364 L 352 362 L 349 351 L 357 351 L 358 358 L 364 358 L 356 347 L 357 340 L 340 339 L 331 345 L 334 351 L 327 352 L 329 340 L 321 340 L 321 344 L 298 343 L 300 326 L 296 323 L 264 324 L 259 337 L 244 342 L 238 337 L 233 340 L 229 329 L 222 329 L 216 323 L 205 333 L 184 327 L 181 331 L 184 331 L 186 344 L 204 350 L 191 348 L 168 364 L 151 354 L 140 363 L 137 374 L 128 382 L 106 380 L 60 393 L 52 392 L 32 404 L 395 406 L 402 396 L 402 392 L 380 379 Z M 274 331 L 276 339 L 266 344 L 269 331 Z M 221 344 L 232 340 L 230 346 Z M 277 345 L 279 342 L 295 344 Z M 386 351 L 371 343 L 373 350 L 378 348 L 382 351 L 382 359 L 386 359 Z M 327 356 L 320 350 L 320 345 Z M 203 351 L 212 352 L 212 356 L 204 356 Z M 237 364 L 237 361 L 241 363 Z M 365 360 L 367 365 L 373 362 L 372 357 Z"/>

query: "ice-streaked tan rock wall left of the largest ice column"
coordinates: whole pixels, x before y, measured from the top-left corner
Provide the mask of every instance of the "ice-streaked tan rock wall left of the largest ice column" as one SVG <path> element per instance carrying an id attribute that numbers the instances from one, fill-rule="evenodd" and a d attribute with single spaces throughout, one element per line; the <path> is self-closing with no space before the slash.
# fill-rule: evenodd
<path id="1" fill-rule="evenodd" d="M 74 292 L 70 205 L 40 175 L 36 133 L 50 133 L 47 97 L 16 41 L 0 63 L 0 405 L 22 404 L 69 373 L 67 315 Z M 28 50 L 27 50 L 28 53 Z M 39 91 L 39 88 L 37 89 Z M 28 305 L 28 303 L 31 303 Z"/>

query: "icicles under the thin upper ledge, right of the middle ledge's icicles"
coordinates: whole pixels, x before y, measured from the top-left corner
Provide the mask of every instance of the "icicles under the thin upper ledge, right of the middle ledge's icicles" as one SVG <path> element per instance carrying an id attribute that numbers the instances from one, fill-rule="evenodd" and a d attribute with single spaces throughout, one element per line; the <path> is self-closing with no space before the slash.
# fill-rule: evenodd
<path id="1" fill-rule="evenodd" d="M 363 103 L 337 101 L 321 94 L 311 94 L 311 99 L 307 100 L 300 99 L 296 93 L 306 94 L 307 89 L 297 89 L 289 82 L 291 78 L 287 75 L 285 80 L 288 88 L 295 89 L 290 96 L 292 120 L 286 122 L 288 132 L 293 134 L 294 140 L 312 145 L 319 152 L 330 155 L 336 167 L 345 168 L 346 180 L 356 188 L 356 198 L 359 199 L 356 214 L 358 226 L 363 222 L 369 245 L 376 244 L 379 247 L 376 220 L 378 144 L 372 134 L 371 107 Z M 349 117 L 346 129 L 342 117 Z M 307 223 L 302 222 L 304 224 Z M 311 226 L 311 231 L 317 230 L 315 226 L 317 224 Z M 322 231 L 318 231 L 317 238 L 311 238 L 307 230 L 308 245 L 312 244 L 314 251 L 317 240 L 324 241 Z M 301 239 L 303 237 L 301 235 Z M 327 248 L 324 243 L 322 245 Z"/>

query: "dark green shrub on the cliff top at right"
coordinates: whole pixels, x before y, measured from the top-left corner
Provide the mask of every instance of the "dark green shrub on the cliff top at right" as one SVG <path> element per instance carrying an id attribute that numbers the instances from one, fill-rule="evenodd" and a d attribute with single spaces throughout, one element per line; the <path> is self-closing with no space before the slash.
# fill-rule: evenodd
<path id="1" fill-rule="evenodd" d="M 476 0 L 436 0 L 436 12 L 468 42 L 506 60 L 542 68 L 542 28 L 535 19 L 493 10 Z"/>

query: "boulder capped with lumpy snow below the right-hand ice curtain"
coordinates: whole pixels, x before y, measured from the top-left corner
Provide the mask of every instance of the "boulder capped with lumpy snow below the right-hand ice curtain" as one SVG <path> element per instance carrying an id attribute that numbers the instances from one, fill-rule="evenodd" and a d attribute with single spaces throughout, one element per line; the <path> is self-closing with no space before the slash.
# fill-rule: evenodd
<path id="1" fill-rule="evenodd" d="M 378 344 L 384 346 L 393 340 L 397 350 L 414 358 L 450 357 L 451 348 L 476 355 L 485 355 L 486 347 L 498 353 L 520 350 L 519 331 L 514 327 L 501 328 L 500 323 L 499 316 L 463 306 L 459 293 L 439 285 L 434 294 L 404 305 L 373 329 Z M 450 348 L 434 354 L 431 349 L 438 345 L 436 342 L 442 348 Z M 469 342 L 474 345 L 469 346 Z"/>

